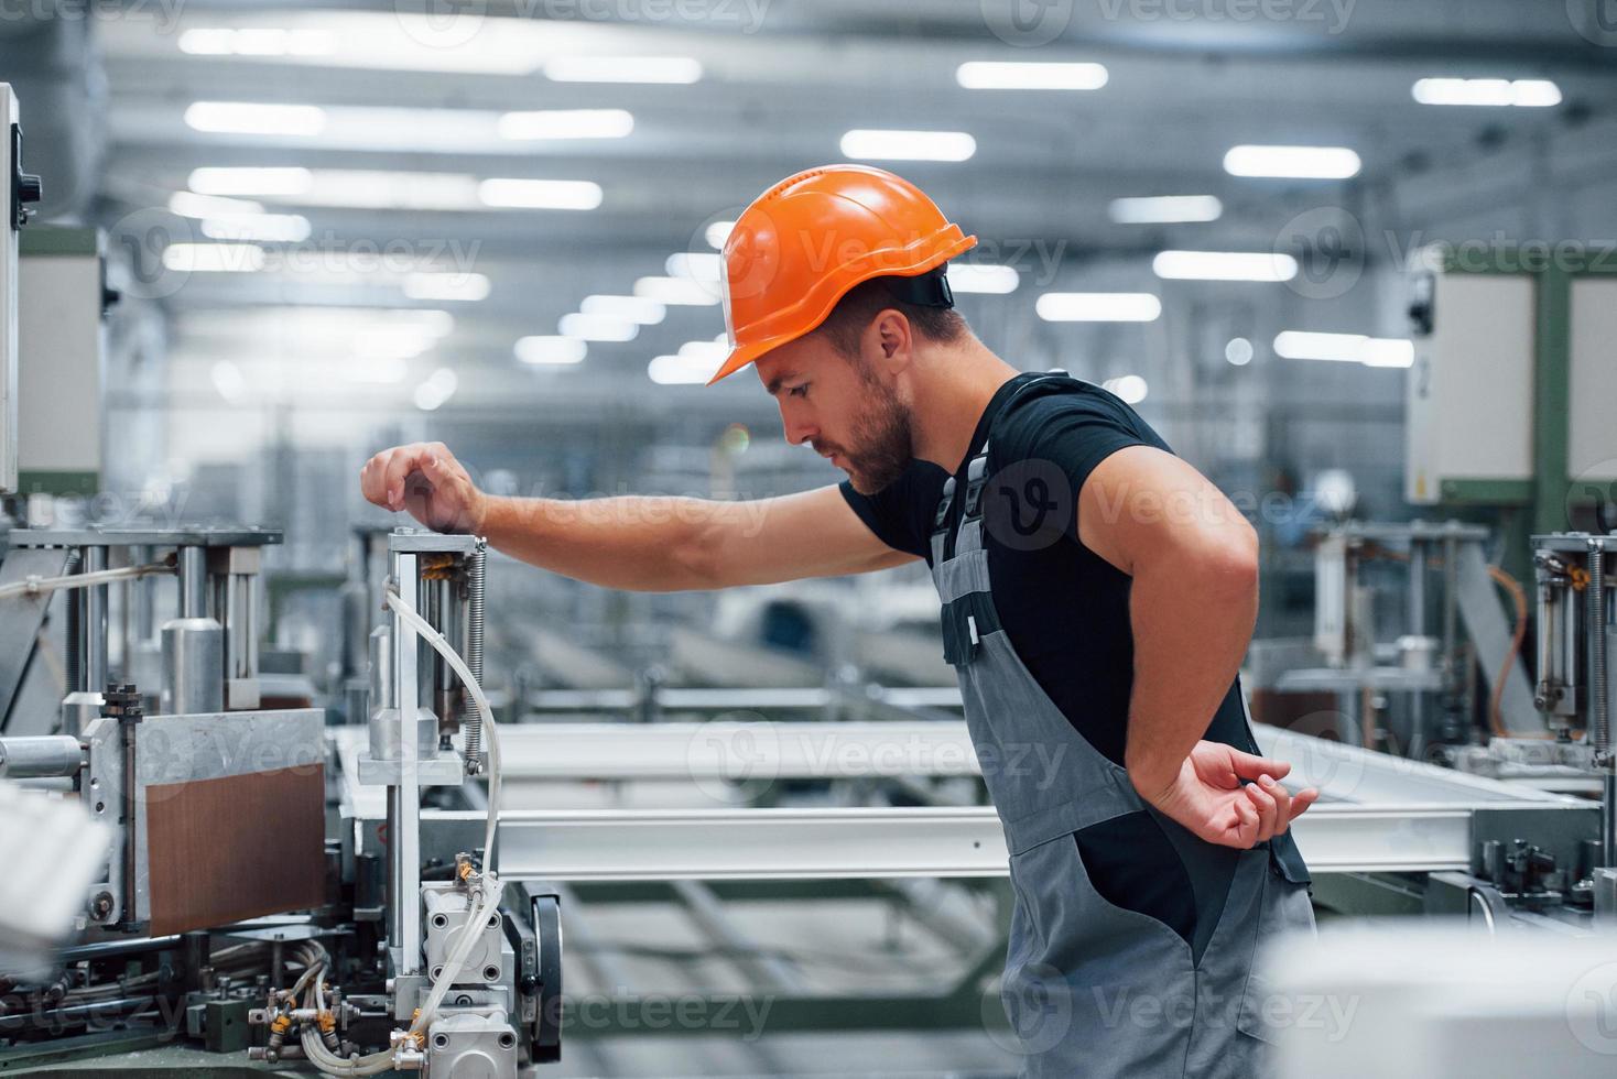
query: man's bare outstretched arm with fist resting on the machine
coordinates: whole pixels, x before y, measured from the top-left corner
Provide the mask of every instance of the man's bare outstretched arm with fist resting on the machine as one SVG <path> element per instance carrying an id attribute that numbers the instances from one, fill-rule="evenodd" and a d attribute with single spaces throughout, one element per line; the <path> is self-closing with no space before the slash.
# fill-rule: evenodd
<path id="1" fill-rule="evenodd" d="M 747 502 L 500 498 L 479 491 L 443 443 L 416 443 L 372 457 L 361 488 L 429 528 L 487 536 L 513 557 L 606 588 L 768 585 L 914 560 L 881 543 L 834 486 Z"/>

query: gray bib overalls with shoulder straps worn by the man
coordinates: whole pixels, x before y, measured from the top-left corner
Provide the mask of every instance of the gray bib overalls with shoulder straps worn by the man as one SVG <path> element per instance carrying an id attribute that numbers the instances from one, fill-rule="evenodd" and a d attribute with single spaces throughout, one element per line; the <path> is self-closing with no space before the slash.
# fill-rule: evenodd
<path id="1" fill-rule="evenodd" d="M 1290 833 L 1235 851 L 1146 809 L 1127 772 L 1093 749 L 1038 686 L 994 612 L 982 541 L 986 470 L 985 443 L 967 470 L 962 506 L 954 504 L 956 481 L 944 485 L 933 580 L 944 604 L 944 653 L 1011 850 L 1015 906 L 1001 997 L 1024 1074 L 1263 1074 L 1263 1042 L 1289 1011 L 1253 976 L 1253 951 L 1271 934 L 1313 929 L 1302 856 Z M 1237 748 L 1255 753 L 1248 722 L 1247 745 Z M 1030 767 L 1035 759 L 1058 766 Z M 1197 906 L 1192 937 L 1108 901 L 1091 882 L 1082 832 L 1125 824 L 1119 819 L 1127 814 L 1146 829 L 1155 821 L 1184 864 Z"/>

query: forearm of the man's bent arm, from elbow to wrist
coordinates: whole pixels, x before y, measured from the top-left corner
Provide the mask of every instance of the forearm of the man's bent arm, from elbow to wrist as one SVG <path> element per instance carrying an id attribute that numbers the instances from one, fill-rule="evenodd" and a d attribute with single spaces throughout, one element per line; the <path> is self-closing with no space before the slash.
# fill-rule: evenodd
<path id="1" fill-rule="evenodd" d="M 1258 615 L 1256 552 L 1180 551 L 1135 565 L 1134 691 L 1127 767 L 1151 798 L 1166 788 L 1229 691 Z"/>

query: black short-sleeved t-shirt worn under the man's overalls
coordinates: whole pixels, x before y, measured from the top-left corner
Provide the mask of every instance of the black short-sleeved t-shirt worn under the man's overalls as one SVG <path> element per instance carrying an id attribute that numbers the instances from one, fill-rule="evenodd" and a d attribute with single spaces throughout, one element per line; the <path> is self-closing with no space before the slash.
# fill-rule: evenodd
<path id="1" fill-rule="evenodd" d="M 1119 449 L 1172 451 L 1134 409 L 1100 386 L 1020 375 L 994 393 L 978 420 L 956 477 L 957 491 L 965 491 L 965 468 L 1001 410 L 983 491 L 983 546 L 999 623 L 1067 722 L 1121 766 L 1134 688 L 1130 580 L 1079 540 L 1077 493 Z M 938 465 L 912 460 L 876 494 L 860 494 L 847 481 L 841 489 L 883 543 L 930 564 L 931 523 L 946 478 Z M 962 502 L 954 501 L 956 523 Z M 1248 746 L 1239 682 L 1224 695 L 1205 737 Z"/>

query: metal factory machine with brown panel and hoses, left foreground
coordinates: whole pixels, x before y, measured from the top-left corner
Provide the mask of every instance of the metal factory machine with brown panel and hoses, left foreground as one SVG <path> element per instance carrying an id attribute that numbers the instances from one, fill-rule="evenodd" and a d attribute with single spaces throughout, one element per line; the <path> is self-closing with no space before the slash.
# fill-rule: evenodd
<path id="1" fill-rule="evenodd" d="M 490 864 L 498 741 L 477 685 L 480 540 L 388 536 L 364 746 L 343 777 L 328 775 L 323 709 L 259 707 L 255 585 L 277 533 L 8 540 L 0 625 L 24 644 L 0 674 L 15 691 L 60 593 L 68 693 L 57 732 L 0 738 L 0 777 L 81 800 L 112 840 L 78 938 L 42 976 L 0 982 L 0 1068 L 141 1043 L 333 1076 L 514 1077 L 559 1056 L 556 893 L 508 888 Z M 176 617 L 157 635 L 158 685 L 139 685 L 126 677 L 141 667 L 137 612 L 163 606 L 165 578 Z M 424 795 L 477 775 L 483 827 L 424 850 Z M 341 783 L 385 811 L 341 816 Z"/>

